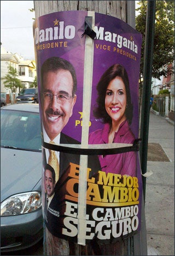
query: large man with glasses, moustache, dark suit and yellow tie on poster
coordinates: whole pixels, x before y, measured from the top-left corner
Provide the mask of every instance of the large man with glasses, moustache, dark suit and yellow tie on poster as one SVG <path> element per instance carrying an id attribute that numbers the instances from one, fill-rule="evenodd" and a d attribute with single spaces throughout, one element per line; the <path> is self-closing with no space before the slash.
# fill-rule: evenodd
<path id="1" fill-rule="evenodd" d="M 51 144 L 79 144 L 62 129 L 72 116 L 77 95 L 77 77 L 72 64 L 59 57 L 51 57 L 42 65 L 40 71 L 40 102 L 42 106 L 43 139 Z M 56 183 L 71 159 L 59 151 L 44 149 L 44 157 L 55 170 Z M 53 157 L 55 162 L 53 163 Z M 57 161 L 57 163 L 56 163 Z"/>

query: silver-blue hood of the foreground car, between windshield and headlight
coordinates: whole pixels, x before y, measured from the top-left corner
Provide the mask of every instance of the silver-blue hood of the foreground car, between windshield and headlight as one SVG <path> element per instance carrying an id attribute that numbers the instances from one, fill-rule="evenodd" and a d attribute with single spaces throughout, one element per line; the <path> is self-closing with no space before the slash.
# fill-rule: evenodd
<path id="1" fill-rule="evenodd" d="M 42 153 L 1 148 L 1 202 L 41 184 Z M 38 185 L 39 187 L 39 185 Z"/>

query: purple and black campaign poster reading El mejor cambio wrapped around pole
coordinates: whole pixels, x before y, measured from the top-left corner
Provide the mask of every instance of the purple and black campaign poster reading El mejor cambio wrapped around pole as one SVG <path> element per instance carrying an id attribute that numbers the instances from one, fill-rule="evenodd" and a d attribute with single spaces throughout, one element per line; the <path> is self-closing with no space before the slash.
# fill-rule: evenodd
<path id="1" fill-rule="evenodd" d="M 95 12 L 33 25 L 50 234 L 113 243 L 141 228 L 138 79 L 142 36 Z"/>

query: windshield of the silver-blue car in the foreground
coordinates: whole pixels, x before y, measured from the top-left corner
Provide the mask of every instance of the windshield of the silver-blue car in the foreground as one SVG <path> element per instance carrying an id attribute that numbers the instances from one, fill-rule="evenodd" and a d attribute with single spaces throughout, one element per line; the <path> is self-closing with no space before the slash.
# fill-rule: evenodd
<path id="1" fill-rule="evenodd" d="M 1 109 L 1 147 L 42 150 L 39 113 Z"/>

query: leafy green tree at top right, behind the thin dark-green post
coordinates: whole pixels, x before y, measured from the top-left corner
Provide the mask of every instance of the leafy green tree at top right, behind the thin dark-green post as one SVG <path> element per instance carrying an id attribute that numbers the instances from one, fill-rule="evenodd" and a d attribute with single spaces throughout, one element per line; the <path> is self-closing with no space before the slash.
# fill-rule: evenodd
<path id="1" fill-rule="evenodd" d="M 136 30 L 143 35 L 141 77 L 143 77 L 147 2 L 148 1 L 138 1 L 138 4 L 141 6 L 137 8 L 139 15 L 136 17 Z M 162 69 L 162 66 L 174 60 L 174 1 L 156 1 L 153 50 L 152 76 L 158 79 L 160 79 L 162 75 L 166 77 L 168 70 Z"/>

